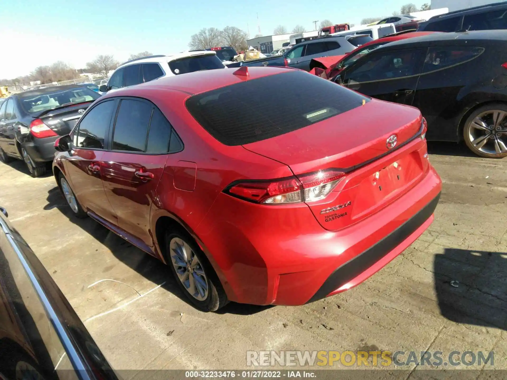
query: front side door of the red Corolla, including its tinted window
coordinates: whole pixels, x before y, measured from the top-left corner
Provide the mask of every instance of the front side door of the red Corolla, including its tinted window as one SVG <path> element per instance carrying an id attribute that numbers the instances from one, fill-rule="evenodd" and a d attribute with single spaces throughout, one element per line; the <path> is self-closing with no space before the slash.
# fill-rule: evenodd
<path id="1" fill-rule="evenodd" d="M 118 220 L 105 195 L 100 168 L 117 104 L 116 99 L 100 102 L 83 116 L 71 135 L 73 149 L 64 161 L 67 180 L 81 206 L 115 225 Z"/>

